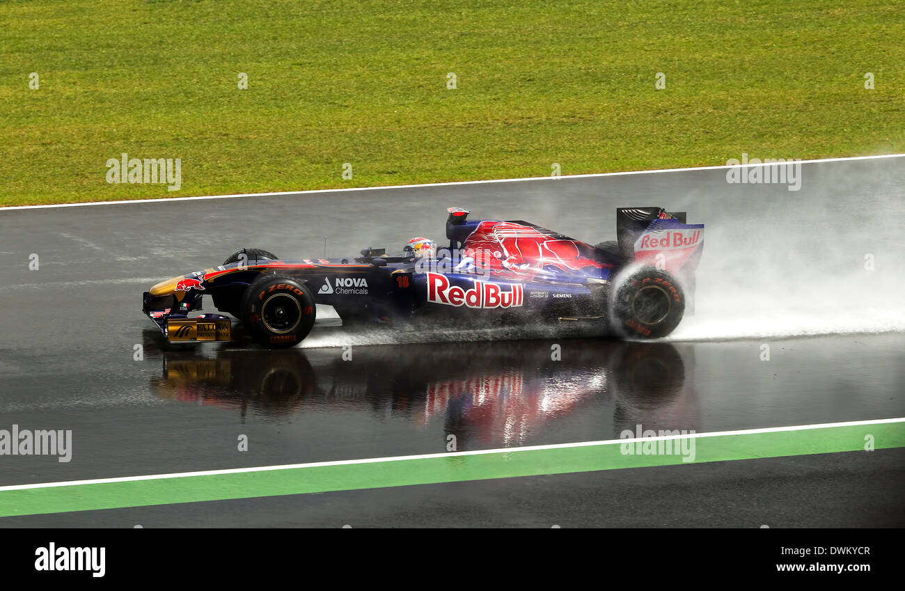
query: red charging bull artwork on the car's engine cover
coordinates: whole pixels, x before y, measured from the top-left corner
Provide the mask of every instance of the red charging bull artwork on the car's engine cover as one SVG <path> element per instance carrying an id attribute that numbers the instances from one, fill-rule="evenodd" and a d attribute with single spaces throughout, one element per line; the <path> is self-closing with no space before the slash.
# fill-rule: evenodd
<path id="1" fill-rule="evenodd" d="M 465 240 L 465 256 L 491 272 L 531 275 L 548 271 L 580 272 L 606 265 L 588 258 L 579 244 L 559 234 L 512 222 L 481 222 Z"/>

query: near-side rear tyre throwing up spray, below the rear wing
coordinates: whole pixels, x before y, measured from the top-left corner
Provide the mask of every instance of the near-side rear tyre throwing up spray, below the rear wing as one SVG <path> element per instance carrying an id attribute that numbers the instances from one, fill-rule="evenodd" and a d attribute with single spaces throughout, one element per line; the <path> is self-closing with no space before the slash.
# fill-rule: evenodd
<path id="1" fill-rule="evenodd" d="M 684 314 L 685 293 L 670 273 L 642 267 L 616 278 L 610 318 L 620 336 L 665 337 Z"/>

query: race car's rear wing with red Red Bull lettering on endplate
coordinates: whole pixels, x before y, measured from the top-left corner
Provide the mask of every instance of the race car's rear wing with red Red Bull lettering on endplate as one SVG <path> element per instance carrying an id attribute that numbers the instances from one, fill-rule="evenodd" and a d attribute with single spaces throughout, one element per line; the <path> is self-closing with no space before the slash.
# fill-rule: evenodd
<path id="1" fill-rule="evenodd" d="M 619 207 L 616 241 L 627 260 L 649 264 L 679 278 L 689 303 L 694 301 L 694 275 L 704 250 L 704 224 L 687 224 L 685 212 L 670 213 L 662 207 Z"/>

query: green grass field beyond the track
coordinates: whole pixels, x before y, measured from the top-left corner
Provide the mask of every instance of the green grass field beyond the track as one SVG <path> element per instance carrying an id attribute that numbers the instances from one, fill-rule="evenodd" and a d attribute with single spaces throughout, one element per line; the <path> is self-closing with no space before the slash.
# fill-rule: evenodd
<path id="1" fill-rule="evenodd" d="M 903 152 L 903 50 L 884 0 L 0 1 L 0 205 Z"/>

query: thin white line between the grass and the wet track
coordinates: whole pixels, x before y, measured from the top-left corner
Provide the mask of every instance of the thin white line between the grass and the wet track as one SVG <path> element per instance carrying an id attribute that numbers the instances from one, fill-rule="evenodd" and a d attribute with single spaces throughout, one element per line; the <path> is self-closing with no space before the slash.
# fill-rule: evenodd
<path id="1" fill-rule="evenodd" d="M 822 162 L 849 162 L 854 160 L 876 160 L 880 158 L 900 158 L 905 154 L 881 154 L 878 156 L 852 156 L 838 158 L 815 158 L 813 160 L 794 160 L 797 164 L 818 164 Z M 198 201 L 202 199 L 233 199 L 235 197 L 271 197 L 277 195 L 314 195 L 318 193 L 341 193 L 344 191 L 379 191 L 382 189 L 413 189 L 427 186 L 461 186 L 461 185 L 485 185 L 488 183 L 521 183 L 523 181 L 557 181 L 564 178 L 596 178 L 598 176 L 627 176 L 627 175 L 653 175 L 663 172 L 691 172 L 694 170 L 720 170 L 727 168 L 748 167 L 775 167 L 786 166 L 789 162 L 769 162 L 761 164 L 719 165 L 716 167 L 689 167 L 689 168 L 659 168 L 655 170 L 628 170 L 624 172 L 602 172 L 587 175 L 563 175 L 563 176 L 529 176 L 526 178 L 496 178 L 480 181 L 452 181 L 449 183 L 424 183 L 422 185 L 386 185 L 386 186 L 351 186 L 341 189 L 309 189 L 306 191 L 278 191 L 276 193 L 242 193 L 238 195 L 199 195 L 195 197 L 161 197 L 148 199 L 128 199 L 123 201 L 89 201 L 85 203 L 63 203 L 55 205 L 12 205 L 0 207 L 0 213 L 15 209 L 47 209 L 51 207 L 82 207 L 85 205 L 129 205 L 138 203 L 165 203 L 169 201 Z"/>

